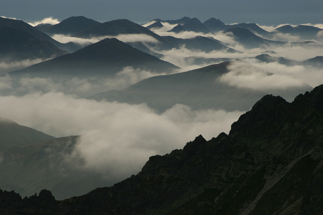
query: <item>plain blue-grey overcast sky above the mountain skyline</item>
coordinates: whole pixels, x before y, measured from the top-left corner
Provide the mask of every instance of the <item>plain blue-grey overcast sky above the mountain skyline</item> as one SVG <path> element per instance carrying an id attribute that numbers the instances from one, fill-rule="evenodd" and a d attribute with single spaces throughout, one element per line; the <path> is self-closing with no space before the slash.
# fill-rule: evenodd
<path id="1" fill-rule="evenodd" d="M 0 0 L 0 16 L 26 22 L 83 15 L 100 22 L 126 18 L 145 23 L 189 16 L 202 22 L 215 17 L 226 24 L 315 24 L 323 23 L 322 11 L 323 0 Z"/>

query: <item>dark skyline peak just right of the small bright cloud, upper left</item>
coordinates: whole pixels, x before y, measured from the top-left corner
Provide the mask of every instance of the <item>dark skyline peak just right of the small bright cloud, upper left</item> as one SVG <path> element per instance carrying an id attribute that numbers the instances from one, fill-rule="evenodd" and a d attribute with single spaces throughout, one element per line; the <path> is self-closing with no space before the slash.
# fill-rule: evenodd
<path id="1" fill-rule="evenodd" d="M 100 24 L 100 22 L 84 16 L 72 16 L 55 25 L 35 26 L 35 28 L 48 35 L 74 35 L 97 24 Z"/>

